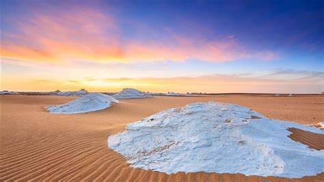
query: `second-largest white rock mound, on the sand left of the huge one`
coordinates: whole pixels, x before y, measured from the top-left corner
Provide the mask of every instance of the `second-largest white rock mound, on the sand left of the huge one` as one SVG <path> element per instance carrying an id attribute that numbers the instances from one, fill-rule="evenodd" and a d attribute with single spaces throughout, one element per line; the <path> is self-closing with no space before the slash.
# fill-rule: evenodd
<path id="1" fill-rule="evenodd" d="M 69 103 L 53 105 L 45 107 L 45 109 L 54 114 L 77 114 L 106 109 L 107 107 L 111 107 L 111 103 L 119 103 L 119 101 L 106 94 L 91 93 Z"/>

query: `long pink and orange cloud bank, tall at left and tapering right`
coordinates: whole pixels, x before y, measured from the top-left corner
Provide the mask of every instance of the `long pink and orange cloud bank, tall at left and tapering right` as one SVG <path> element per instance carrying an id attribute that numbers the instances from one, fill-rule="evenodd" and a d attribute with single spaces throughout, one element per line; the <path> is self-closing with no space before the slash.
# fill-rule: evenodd
<path id="1" fill-rule="evenodd" d="M 154 62 L 202 60 L 225 62 L 255 57 L 271 60 L 271 51 L 251 53 L 234 35 L 224 39 L 187 37 L 171 29 L 146 31 L 157 39 L 124 38 L 120 21 L 101 8 L 69 6 L 31 8 L 28 16 L 11 21 L 3 31 L 1 57 L 38 62 Z M 141 31 L 141 27 L 137 31 Z M 149 33 L 149 34 L 150 34 Z"/>

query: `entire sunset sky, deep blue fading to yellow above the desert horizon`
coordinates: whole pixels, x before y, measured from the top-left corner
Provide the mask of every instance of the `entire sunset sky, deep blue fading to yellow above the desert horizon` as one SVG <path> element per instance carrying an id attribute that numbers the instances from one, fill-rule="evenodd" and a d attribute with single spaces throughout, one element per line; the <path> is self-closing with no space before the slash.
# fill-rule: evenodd
<path id="1" fill-rule="evenodd" d="M 324 1 L 1 1 L 1 90 L 320 93 Z"/>

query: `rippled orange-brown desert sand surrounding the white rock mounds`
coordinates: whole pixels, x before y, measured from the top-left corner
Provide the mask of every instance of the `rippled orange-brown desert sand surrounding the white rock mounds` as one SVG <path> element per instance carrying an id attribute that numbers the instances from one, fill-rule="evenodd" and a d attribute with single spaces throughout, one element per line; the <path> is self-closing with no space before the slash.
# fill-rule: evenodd
<path id="1" fill-rule="evenodd" d="M 49 114 L 43 107 L 66 103 L 75 97 L 6 95 L 0 98 L 0 181 L 5 179 L 69 181 L 80 179 L 97 181 L 269 179 L 284 181 L 284 178 L 246 177 L 243 174 L 179 172 L 167 175 L 161 172 L 139 170 L 129 167 L 122 155 L 107 147 L 107 137 L 123 131 L 127 123 L 140 120 L 162 109 L 210 100 L 236 103 L 250 107 L 269 118 L 280 120 L 297 121 L 303 124 L 324 120 L 323 96 L 221 96 L 212 98 L 160 96 L 125 99 L 121 101 L 126 103 L 115 104 L 105 110 L 73 115 Z M 300 138 L 295 135 L 293 139 L 299 140 Z M 316 140 L 322 139 L 310 135 L 307 140 L 305 141 L 316 145 Z M 324 173 L 303 179 L 324 181 Z"/>

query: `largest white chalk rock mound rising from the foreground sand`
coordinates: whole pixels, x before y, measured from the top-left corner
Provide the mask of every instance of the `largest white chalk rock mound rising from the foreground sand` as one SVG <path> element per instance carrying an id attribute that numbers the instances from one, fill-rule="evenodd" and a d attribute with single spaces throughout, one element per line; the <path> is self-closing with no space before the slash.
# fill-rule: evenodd
<path id="1" fill-rule="evenodd" d="M 253 118 L 253 119 L 252 119 Z M 192 103 L 126 125 L 108 145 L 136 168 L 303 177 L 323 172 L 324 151 L 295 142 L 286 129 L 320 129 L 272 120 L 226 103 Z"/>

